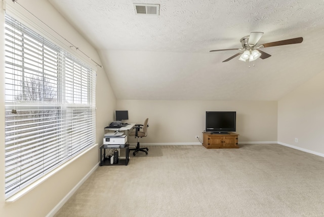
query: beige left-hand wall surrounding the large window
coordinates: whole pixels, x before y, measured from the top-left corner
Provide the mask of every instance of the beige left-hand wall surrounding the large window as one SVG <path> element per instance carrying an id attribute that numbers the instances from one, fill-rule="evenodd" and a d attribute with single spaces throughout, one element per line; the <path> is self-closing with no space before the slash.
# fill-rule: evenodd
<path id="1" fill-rule="evenodd" d="M 28 0 L 19 1 L 27 10 L 36 15 L 51 28 L 59 32 L 68 41 L 78 46 L 80 50 L 100 63 L 97 51 L 73 29 L 58 12 L 52 8 L 48 1 Z M 7 1 L 7 4 L 13 4 Z M 17 6 L 18 7 L 18 6 Z M 0 46 L 4 50 L 4 11 L 0 12 L 1 17 L 1 39 Z M 0 55 L 0 67 L 4 71 L 4 56 Z M 0 76 L 0 133 L 2 148 L 0 149 L 0 216 L 18 217 L 18 216 L 46 216 L 51 210 L 64 199 L 64 197 L 89 173 L 96 168 L 99 161 L 99 149 L 95 146 L 89 152 L 70 163 L 67 167 L 51 176 L 42 184 L 23 195 L 17 201 L 12 203 L 5 202 L 5 179 L 4 179 L 4 143 L 5 143 L 5 118 L 4 118 L 4 73 Z M 115 97 L 111 90 L 109 81 L 103 68 L 98 67 L 97 71 L 97 132 L 96 140 L 102 144 L 104 126 L 113 120 L 115 108 Z"/>

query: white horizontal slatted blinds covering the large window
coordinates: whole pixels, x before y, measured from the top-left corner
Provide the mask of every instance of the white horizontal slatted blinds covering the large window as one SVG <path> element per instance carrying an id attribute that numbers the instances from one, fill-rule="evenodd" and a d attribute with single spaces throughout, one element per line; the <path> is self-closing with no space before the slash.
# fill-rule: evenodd
<path id="1" fill-rule="evenodd" d="M 90 66 L 6 15 L 6 198 L 95 143 L 95 90 Z"/>

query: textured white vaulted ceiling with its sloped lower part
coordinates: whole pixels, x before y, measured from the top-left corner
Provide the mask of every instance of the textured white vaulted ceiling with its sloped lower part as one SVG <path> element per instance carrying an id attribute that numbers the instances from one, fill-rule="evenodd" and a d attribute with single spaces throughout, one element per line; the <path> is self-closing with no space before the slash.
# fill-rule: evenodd
<path id="1" fill-rule="evenodd" d="M 324 70 L 322 0 L 49 2 L 98 49 L 117 99 L 278 100 Z M 133 3 L 159 4 L 159 15 Z M 304 41 L 253 62 L 209 52 L 241 48 L 252 31 L 264 32 L 258 44 Z"/>

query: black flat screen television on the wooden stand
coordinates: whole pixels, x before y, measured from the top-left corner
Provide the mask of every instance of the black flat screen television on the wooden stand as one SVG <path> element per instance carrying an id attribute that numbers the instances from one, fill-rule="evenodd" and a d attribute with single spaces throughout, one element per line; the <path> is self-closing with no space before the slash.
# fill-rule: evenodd
<path id="1" fill-rule="evenodd" d="M 228 133 L 236 131 L 236 112 L 206 112 L 206 132 Z"/>

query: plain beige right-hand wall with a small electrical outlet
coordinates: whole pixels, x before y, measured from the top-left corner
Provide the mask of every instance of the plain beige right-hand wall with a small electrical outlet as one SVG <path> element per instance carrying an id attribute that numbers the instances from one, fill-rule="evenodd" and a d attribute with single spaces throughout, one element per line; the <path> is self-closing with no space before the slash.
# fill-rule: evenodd
<path id="1" fill-rule="evenodd" d="M 324 71 L 278 101 L 278 142 L 324 156 L 323 84 Z"/>

